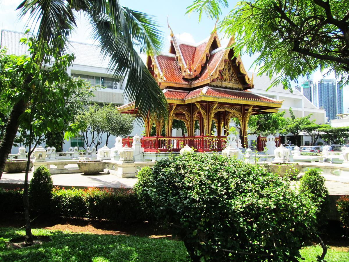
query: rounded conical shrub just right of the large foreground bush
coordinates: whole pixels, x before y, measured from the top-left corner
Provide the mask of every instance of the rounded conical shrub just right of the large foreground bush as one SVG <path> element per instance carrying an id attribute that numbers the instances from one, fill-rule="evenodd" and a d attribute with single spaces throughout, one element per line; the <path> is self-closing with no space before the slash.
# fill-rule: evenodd
<path id="1" fill-rule="evenodd" d="M 316 169 L 309 169 L 300 179 L 299 193 L 310 195 L 314 203 L 317 203 L 317 222 L 321 227 L 327 224 L 327 214 L 329 212 L 328 189 L 325 185 L 325 178 Z"/>

